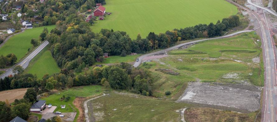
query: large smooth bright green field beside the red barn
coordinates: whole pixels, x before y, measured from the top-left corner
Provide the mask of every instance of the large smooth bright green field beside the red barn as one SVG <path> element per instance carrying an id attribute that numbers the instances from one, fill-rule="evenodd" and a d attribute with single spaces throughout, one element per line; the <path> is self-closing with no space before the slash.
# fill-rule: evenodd
<path id="1" fill-rule="evenodd" d="M 131 38 L 149 32 L 157 34 L 217 20 L 237 13 L 237 8 L 225 0 L 106 0 L 105 20 L 91 26 L 93 32 L 101 29 L 126 31 Z"/>

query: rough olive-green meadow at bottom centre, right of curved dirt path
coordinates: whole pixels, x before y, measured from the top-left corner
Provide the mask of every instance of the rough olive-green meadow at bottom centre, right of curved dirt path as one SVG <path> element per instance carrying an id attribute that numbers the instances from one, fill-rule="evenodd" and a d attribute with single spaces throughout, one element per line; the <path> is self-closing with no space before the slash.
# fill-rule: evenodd
<path id="1" fill-rule="evenodd" d="M 185 103 L 175 103 L 150 97 L 136 98 L 116 93 L 92 100 L 88 102 L 88 106 L 91 106 L 92 103 L 94 104 L 93 113 L 104 112 L 103 120 L 97 120 L 99 122 L 175 122 L 179 120 L 179 113 L 176 110 L 188 106 Z M 114 111 L 113 109 L 117 110 Z M 91 109 L 88 112 L 89 117 L 92 116 L 90 111 Z M 98 118 L 97 116 L 94 117 Z"/>

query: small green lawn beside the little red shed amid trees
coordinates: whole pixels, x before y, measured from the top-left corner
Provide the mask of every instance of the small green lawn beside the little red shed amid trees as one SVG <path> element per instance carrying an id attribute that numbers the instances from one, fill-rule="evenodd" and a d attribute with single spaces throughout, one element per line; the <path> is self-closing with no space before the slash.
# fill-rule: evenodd
<path id="1" fill-rule="evenodd" d="M 97 62 L 96 64 L 113 64 L 113 63 L 120 63 L 120 62 L 135 62 L 136 58 L 141 56 L 139 55 L 126 55 L 124 57 L 122 56 L 110 56 L 108 58 L 105 58 L 102 62 Z"/>

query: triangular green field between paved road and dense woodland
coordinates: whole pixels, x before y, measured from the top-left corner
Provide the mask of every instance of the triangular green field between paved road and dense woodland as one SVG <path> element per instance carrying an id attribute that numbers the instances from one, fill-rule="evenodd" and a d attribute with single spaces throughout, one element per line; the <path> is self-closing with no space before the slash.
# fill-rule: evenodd
<path id="1" fill-rule="evenodd" d="M 60 68 L 48 49 L 49 46 L 46 46 L 36 57 L 31 60 L 29 66 L 25 70 L 25 73 L 37 75 L 38 78 L 42 78 L 45 74 L 52 75 L 60 72 Z"/>

